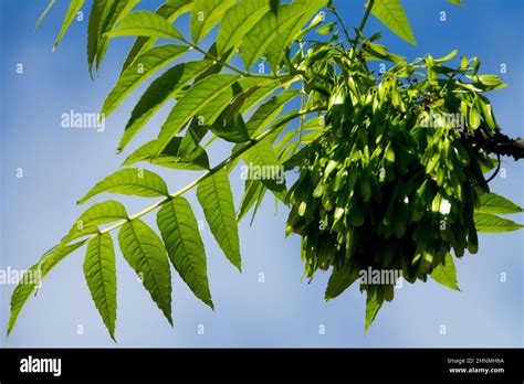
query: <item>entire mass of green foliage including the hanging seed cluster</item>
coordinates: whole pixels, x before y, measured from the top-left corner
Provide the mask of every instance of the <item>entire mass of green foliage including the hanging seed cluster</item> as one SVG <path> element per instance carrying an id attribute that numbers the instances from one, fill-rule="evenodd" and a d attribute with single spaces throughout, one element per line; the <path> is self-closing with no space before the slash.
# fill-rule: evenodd
<path id="1" fill-rule="evenodd" d="M 409 282 L 431 276 L 459 289 L 451 252 L 455 257 L 475 253 L 478 232 L 522 227 L 497 216 L 522 209 L 490 192 L 484 174 L 496 160 L 479 143 L 502 135 L 484 93 L 504 84 L 497 76 L 480 74 L 476 57 L 462 57 L 454 67 L 448 62 L 457 51 L 408 62 L 378 44 L 379 33 L 365 34 L 374 15 L 416 44 L 399 0 L 363 1 L 363 21 L 353 35 L 329 0 L 166 0 L 155 12 L 137 10 L 139 3 L 94 0 L 88 22 L 91 73 L 99 68 L 115 38 L 135 36 L 103 114 L 112 114 L 156 76 L 133 109 L 118 151 L 136 141 L 168 100 L 177 103 L 157 139 L 142 143 L 123 169 L 98 182 L 78 204 L 102 193 L 161 200 L 134 215 L 117 201 L 91 206 L 31 268 L 45 276 L 87 244 L 85 278 L 112 338 L 117 308 L 112 233 L 117 230 L 124 258 L 169 323 L 169 262 L 195 296 L 213 308 L 205 245 L 182 196 L 192 189 L 218 245 L 239 270 L 238 222 L 250 210 L 254 216 L 269 194 L 290 206 L 286 232 L 302 237 L 305 275 L 332 270 L 326 300 L 343 294 L 367 268 L 399 269 Z M 83 6 L 71 1 L 56 44 Z M 190 13 L 184 29 L 189 35 L 175 25 L 185 13 Z M 202 45 L 207 40 L 212 43 Z M 201 60 L 185 61 L 191 51 Z M 233 64 L 235 57 L 243 67 Z M 390 62 L 391 67 L 376 74 L 369 70 L 371 61 Z M 258 71 L 259 64 L 269 65 L 271 73 Z M 292 102 L 301 107 L 283 114 Z M 462 114 L 464 122 L 423 125 L 446 114 Z M 231 154 L 211 166 L 206 137 L 231 142 Z M 273 179 L 247 180 L 235 210 L 229 177 L 241 160 L 252 168 L 298 168 L 300 178 L 289 190 Z M 205 173 L 169 192 L 155 172 L 129 168 L 139 162 Z M 154 211 L 160 236 L 140 220 Z M 104 224 L 111 226 L 101 228 Z M 8 333 L 35 289 L 24 281 L 15 288 Z M 394 284 L 360 281 L 360 290 L 367 292 L 367 330 L 382 302 L 394 298 Z"/>

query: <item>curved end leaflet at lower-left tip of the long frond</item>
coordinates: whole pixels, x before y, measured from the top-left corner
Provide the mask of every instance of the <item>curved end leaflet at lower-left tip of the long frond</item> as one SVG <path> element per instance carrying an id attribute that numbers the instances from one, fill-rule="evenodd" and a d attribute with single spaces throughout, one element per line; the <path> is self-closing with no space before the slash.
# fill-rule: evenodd
<path id="1" fill-rule="evenodd" d="M 49 249 L 40 259 L 39 263 L 29 268 L 17 288 L 11 295 L 11 314 L 9 317 L 7 334 L 9 335 L 17 323 L 18 316 L 22 307 L 28 301 L 28 298 L 40 288 L 42 279 L 62 262 L 67 255 L 85 244 L 86 241 L 76 244 L 64 246 L 60 244 Z"/>

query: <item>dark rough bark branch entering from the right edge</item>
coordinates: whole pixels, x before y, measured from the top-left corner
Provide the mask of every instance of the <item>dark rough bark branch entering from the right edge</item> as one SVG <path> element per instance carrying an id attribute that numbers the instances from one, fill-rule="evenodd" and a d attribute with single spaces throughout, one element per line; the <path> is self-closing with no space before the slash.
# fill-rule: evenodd
<path id="1" fill-rule="evenodd" d="M 510 156 L 515 160 L 524 159 L 524 139 L 522 138 L 512 139 L 501 132 L 495 132 L 492 137 L 462 132 L 462 139 L 490 153 Z"/>

